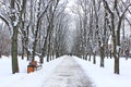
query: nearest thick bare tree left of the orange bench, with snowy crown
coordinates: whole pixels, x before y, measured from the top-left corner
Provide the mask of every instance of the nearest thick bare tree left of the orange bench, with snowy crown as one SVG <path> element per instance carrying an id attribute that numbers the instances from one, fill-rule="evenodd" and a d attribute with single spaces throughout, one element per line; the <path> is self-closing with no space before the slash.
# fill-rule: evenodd
<path id="1" fill-rule="evenodd" d="M 12 73 L 19 72 L 19 64 L 17 64 L 17 35 L 19 28 L 22 22 L 22 14 L 23 14 L 23 5 L 26 4 L 26 0 L 22 2 L 20 0 L 11 0 L 9 1 L 10 7 L 3 4 L 5 8 L 1 8 L 5 10 L 4 12 L 1 10 L 0 18 L 7 23 L 9 28 L 12 30 Z M 22 3 L 22 4 L 21 4 Z"/>

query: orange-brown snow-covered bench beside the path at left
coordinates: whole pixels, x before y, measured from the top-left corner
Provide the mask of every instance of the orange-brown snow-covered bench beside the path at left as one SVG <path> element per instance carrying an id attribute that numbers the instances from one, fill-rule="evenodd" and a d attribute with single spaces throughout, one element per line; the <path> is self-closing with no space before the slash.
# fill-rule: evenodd
<path id="1" fill-rule="evenodd" d="M 33 61 L 33 62 L 31 62 L 29 65 L 27 66 L 27 73 L 37 71 L 37 70 L 39 70 L 39 69 L 41 69 L 41 67 L 43 67 L 41 64 L 38 64 L 37 61 Z"/>

